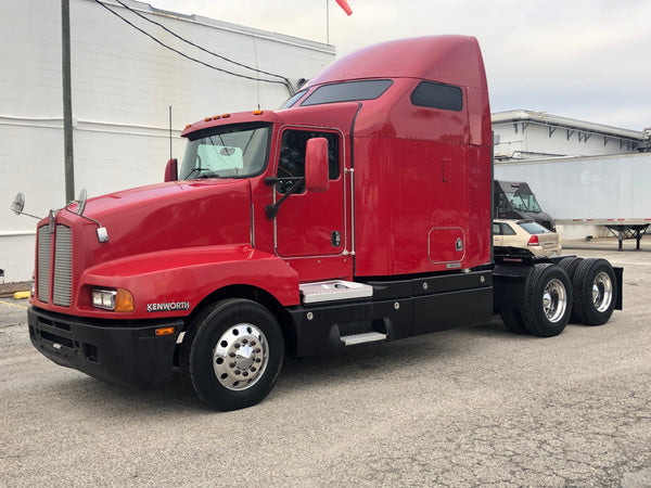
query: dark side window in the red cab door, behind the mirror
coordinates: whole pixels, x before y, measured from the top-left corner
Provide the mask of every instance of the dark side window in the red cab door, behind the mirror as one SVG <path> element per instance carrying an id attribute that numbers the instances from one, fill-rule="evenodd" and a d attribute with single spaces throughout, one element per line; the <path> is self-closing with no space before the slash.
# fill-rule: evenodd
<path id="1" fill-rule="evenodd" d="M 295 180 L 292 178 L 305 177 L 305 149 L 307 141 L 312 138 L 328 140 L 328 175 L 331 180 L 340 177 L 340 134 L 336 132 L 321 132 L 314 130 L 285 130 L 280 143 L 277 178 L 288 178 L 276 185 L 278 193 L 290 191 Z M 305 192 L 305 183 L 295 193 Z"/>

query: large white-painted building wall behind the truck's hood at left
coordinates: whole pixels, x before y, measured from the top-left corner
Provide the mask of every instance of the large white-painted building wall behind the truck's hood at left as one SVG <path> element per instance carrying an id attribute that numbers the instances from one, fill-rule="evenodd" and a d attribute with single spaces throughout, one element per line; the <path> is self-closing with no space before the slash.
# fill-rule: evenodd
<path id="1" fill-rule="evenodd" d="M 178 136 L 186 124 L 258 105 L 276 108 L 290 97 L 280 78 L 210 55 L 146 20 L 293 86 L 334 60 L 332 46 L 123 2 L 130 10 L 115 0 L 71 0 L 76 193 L 162 181 L 170 153 L 169 106 L 173 153 L 181 157 Z M 161 42 L 248 78 L 165 49 L 102 4 Z M 15 193 L 25 193 L 25 210 L 37 216 L 65 204 L 61 2 L 2 0 L 0 18 L 0 269 L 12 282 L 31 278 L 36 228 L 34 219 L 9 210 Z"/>

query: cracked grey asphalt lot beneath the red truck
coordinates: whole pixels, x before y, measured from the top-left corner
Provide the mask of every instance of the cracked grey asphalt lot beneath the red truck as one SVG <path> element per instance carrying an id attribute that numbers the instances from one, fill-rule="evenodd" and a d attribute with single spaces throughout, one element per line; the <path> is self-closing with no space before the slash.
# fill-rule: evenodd
<path id="1" fill-rule="evenodd" d="M 260 404 L 205 409 L 58 367 L 0 298 L 0 486 L 651 486 L 651 251 L 624 310 L 558 337 L 487 324 L 288 359 Z M 651 246 L 650 246 L 651 247 Z"/>

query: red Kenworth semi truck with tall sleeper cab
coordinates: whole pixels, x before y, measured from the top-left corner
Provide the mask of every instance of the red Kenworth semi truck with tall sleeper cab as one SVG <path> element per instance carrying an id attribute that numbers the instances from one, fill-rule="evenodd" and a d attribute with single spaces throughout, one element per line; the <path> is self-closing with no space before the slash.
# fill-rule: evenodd
<path id="1" fill-rule="evenodd" d="M 494 256 L 476 39 L 373 46 L 278 111 L 192 124 L 165 182 L 38 223 L 28 310 L 52 361 L 137 386 L 174 368 L 216 410 L 305 356 L 488 322 L 552 336 L 622 308 L 603 259 Z M 22 203 L 14 206 L 22 211 Z"/>

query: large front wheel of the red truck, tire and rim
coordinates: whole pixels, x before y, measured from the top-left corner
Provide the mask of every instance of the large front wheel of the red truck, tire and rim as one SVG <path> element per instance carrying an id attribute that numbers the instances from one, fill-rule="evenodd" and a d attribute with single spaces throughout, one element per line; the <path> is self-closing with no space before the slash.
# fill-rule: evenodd
<path id="1" fill-rule="evenodd" d="M 276 318 L 246 299 L 219 301 L 200 313 L 181 344 L 183 382 L 219 411 L 259 403 L 271 390 L 284 359 Z"/>

